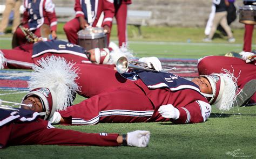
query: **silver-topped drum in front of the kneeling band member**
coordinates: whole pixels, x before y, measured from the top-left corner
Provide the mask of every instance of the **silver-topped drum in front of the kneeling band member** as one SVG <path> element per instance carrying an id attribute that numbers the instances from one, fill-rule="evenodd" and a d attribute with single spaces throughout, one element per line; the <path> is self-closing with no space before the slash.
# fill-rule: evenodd
<path id="1" fill-rule="evenodd" d="M 93 48 L 106 48 L 107 37 L 102 27 L 86 27 L 78 33 L 78 45 L 86 50 Z"/>

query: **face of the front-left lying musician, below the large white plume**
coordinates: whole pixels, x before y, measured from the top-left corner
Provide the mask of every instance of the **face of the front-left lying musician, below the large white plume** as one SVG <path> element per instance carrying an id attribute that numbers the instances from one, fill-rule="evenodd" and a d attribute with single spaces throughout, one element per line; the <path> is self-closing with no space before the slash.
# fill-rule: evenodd
<path id="1" fill-rule="evenodd" d="M 22 102 L 23 104 L 31 104 L 32 107 L 22 106 L 23 109 L 32 110 L 35 112 L 43 112 L 43 105 L 41 100 L 36 96 L 29 96 Z"/>

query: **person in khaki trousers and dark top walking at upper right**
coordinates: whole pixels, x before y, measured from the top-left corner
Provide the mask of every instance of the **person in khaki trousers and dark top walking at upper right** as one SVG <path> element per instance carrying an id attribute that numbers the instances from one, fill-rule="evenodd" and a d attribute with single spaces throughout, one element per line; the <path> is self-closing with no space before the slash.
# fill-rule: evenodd
<path id="1" fill-rule="evenodd" d="M 233 34 L 231 32 L 230 26 L 227 25 L 227 0 L 213 0 L 213 4 L 215 5 L 215 16 L 213 18 L 213 24 L 211 27 L 211 32 L 207 38 L 203 39 L 205 42 L 211 42 L 215 31 L 217 30 L 217 26 L 220 24 L 228 36 L 228 42 L 235 42 L 233 38 Z"/>

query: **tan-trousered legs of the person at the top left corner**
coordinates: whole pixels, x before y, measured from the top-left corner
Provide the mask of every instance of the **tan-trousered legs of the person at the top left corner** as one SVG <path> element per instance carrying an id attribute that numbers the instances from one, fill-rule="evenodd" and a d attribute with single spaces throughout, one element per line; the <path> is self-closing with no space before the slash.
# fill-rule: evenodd
<path id="1" fill-rule="evenodd" d="M 3 12 L 3 19 L 0 24 L 0 35 L 4 35 L 5 29 L 8 26 L 9 16 L 12 9 L 14 10 L 14 21 L 12 21 L 11 32 L 15 32 L 17 26 L 21 21 L 21 15 L 19 14 L 19 8 L 21 7 L 21 3 L 21 0 L 6 0 L 5 9 Z"/>

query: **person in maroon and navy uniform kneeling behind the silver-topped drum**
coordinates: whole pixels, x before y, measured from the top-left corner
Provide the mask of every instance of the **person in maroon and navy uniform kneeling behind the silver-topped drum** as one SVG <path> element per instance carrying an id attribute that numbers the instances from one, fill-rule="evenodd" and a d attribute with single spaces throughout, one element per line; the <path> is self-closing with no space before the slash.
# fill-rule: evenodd
<path id="1" fill-rule="evenodd" d="M 104 19 L 101 26 L 104 28 L 104 32 L 107 34 L 107 43 L 110 38 L 110 25 L 114 17 L 114 5 L 113 1 L 98 0 L 76 0 L 75 8 L 76 17 L 68 21 L 63 27 L 66 37 L 69 42 L 73 44 L 78 43 L 77 32 L 85 29 L 86 27 L 96 27 L 100 17 L 104 12 Z"/>

